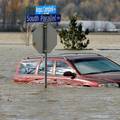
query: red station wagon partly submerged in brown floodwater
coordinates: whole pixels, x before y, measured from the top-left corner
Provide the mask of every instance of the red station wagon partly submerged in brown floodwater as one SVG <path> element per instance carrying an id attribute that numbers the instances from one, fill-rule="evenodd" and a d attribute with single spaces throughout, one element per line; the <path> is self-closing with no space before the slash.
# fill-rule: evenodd
<path id="1" fill-rule="evenodd" d="M 15 82 L 43 83 L 44 57 L 20 61 L 14 76 Z M 48 84 L 100 87 L 120 87 L 120 65 L 99 54 L 61 54 L 49 56 L 47 61 Z"/>

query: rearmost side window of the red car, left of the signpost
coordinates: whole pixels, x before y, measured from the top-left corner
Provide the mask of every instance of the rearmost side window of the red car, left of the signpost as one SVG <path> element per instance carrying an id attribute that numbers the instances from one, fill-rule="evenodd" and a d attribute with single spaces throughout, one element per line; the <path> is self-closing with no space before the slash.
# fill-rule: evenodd
<path id="1" fill-rule="evenodd" d="M 38 65 L 37 61 L 22 62 L 20 64 L 19 74 L 34 74 L 37 65 Z"/>

